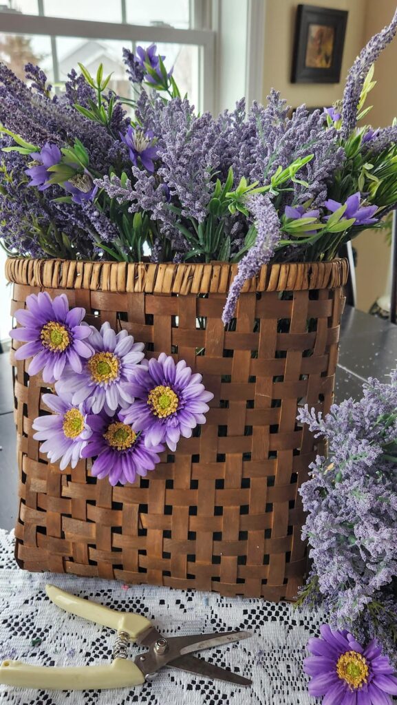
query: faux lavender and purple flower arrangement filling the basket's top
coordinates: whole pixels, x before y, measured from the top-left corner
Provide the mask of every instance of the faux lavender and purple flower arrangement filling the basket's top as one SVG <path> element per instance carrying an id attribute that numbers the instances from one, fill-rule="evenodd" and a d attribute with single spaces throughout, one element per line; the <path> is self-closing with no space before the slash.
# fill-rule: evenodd
<path id="1" fill-rule="evenodd" d="M 63 92 L 0 63 L 0 240 L 10 255 L 238 264 L 223 319 L 267 262 L 331 259 L 397 204 L 397 125 L 372 128 L 373 65 L 393 39 L 372 37 L 343 101 L 293 114 L 267 106 L 219 116 L 181 97 L 152 44 L 123 50 L 133 98 L 80 65 Z"/>

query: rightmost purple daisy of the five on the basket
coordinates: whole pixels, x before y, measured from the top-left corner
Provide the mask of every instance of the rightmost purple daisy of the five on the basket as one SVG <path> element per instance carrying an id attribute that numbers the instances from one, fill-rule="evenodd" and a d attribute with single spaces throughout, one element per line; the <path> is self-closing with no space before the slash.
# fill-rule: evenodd
<path id="1" fill-rule="evenodd" d="M 161 353 L 147 367 L 135 368 L 128 386 L 135 402 L 121 415 L 135 431 L 145 431 L 148 447 L 164 441 L 176 450 L 181 436 L 190 438 L 192 429 L 205 423 L 207 402 L 214 395 L 201 381 L 201 374 L 192 374 L 185 360 L 175 364 L 171 355 Z"/>

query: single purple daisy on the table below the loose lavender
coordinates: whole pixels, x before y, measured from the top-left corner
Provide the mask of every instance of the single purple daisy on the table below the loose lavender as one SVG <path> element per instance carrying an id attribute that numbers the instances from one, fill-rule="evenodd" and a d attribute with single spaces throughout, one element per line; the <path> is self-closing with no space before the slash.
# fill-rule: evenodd
<path id="1" fill-rule="evenodd" d="M 376 639 L 365 649 L 346 630 L 320 627 L 322 639 L 309 639 L 305 673 L 312 676 L 309 692 L 322 705 L 388 705 L 397 695 L 397 678 Z"/>

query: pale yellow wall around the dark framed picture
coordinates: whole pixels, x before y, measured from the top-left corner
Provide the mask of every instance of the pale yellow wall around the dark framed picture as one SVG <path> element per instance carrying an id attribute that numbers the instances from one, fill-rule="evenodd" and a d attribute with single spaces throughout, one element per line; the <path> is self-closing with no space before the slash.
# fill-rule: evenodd
<path id="1" fill-rule="evenodd" d="M 298 0 L 264 0 L 264 85 L 263 97 L 271 87 L 281 92 L 288 104 L 295 107 L 329 106 L 343 94 L 348 69 L 365 42 L 388 24 L 396 9 L 397 0 L 315 0 L 314 5 L 348 10 L 346 41 L 343 51 L 341 82 L 339 84 L 291 83 L 291 62 L 295 13 Z M 377 86 L 369 104 L 374 109 L 367 120 L 373 125 L 387 125 L 397 115 L 397 38 L 381 55 L 375 68 Z M 384 293 L 389 268 L 389 247 L 384 233 L 367 231 L 355 240 L 358 250 L 358 308 L 368 310 L 376 298 Z"/>

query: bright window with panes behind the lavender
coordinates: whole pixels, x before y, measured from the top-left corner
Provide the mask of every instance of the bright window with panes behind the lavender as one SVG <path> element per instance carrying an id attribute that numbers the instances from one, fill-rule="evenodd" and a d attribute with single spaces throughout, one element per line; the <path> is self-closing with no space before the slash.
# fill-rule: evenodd
<path id="1" fill-rule="evenodd" d="M 20 78 L 25 63 L 38 63 L 56 90 L 78 63 L 90 73 L 103 63 L 110 87 L 128 97 L 123 47 L 156 42 L 181 92 L 199 111 L 212 110 L 215 32 L 197 27 L 204 1 L 8 0 L 0 4 L 0 59 Z"/>

